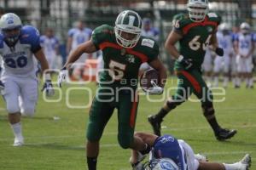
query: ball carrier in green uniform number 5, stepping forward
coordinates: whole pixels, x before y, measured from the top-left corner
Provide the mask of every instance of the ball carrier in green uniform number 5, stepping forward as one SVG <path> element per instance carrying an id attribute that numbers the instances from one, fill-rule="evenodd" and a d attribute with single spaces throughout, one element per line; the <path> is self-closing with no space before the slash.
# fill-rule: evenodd
<path id="1" fill-rule="evenodd" d="M 59 75 L 59 85 L 67 77 L 67 69 L 83 53 L 93 53 L 101 49 L 104 71 L 101 72 L 99 88 L 90 108 L 90 119 L 87 128 L 87 165 L 89 170 L 96 169 L 96 158 L 99 154 L 99 141 L 104 127 L 118 110 L 119 145 L 145 153 L 150 148 L 142 139 L 133 136 L 137 117 L 137 79 L 139 67 L 148 62 L 159 71 L 160 84 L 150 88 L 149 94 L 161 94 L 166 79 L 166 69 L 158 59 L 160 48 L 156 42 L 141 37 L 142 20 L 131 10 L 119 14 L 115 26 L 97 27 L 92 38 L 73 51 Z"/>

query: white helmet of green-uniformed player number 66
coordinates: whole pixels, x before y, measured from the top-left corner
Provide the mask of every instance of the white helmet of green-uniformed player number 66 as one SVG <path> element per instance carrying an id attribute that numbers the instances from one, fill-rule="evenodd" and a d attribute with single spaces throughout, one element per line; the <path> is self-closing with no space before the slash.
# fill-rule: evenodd
<path id="1" fill-rule="evenodd" d="M 193 22 L 201 22 L 208 13 L 208 0 L 189 0 L 187 8 L 189 19 Z"/>

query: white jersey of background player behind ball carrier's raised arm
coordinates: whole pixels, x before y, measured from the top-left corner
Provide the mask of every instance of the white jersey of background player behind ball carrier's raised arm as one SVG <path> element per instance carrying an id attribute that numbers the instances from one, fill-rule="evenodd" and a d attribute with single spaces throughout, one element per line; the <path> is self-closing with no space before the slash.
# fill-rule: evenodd
<path id="1" fill-rule="evenodd" d="M 90 40 L 91 32 L 90 28 L 84 28 L 83 30 L 80 30 L 79 28 L 72 28 L 69 30 L 67 33 L 68 37 L 73 38 L 71 50 L 77 48 L 80 43 Z"/>

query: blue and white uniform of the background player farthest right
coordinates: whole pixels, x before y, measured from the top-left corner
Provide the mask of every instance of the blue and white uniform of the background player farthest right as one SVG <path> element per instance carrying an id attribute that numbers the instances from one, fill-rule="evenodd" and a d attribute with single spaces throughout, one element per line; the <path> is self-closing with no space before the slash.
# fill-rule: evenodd
<path id="1" fill-rule="evenodd" d="M 253 34 L 242 33 L 236 34 L 234 38 L 238 42 L 238 55 L 236 56 L 237 71 L 251 73 L 253 70 L 253 56 L 247 56 L 247 54 L 252 50 L 256 38 Z"/>

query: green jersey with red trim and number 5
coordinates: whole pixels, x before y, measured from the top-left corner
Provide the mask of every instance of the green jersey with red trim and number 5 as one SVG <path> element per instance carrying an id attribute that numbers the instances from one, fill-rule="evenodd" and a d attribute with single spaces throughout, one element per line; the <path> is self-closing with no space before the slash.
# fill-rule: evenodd
<path id="1" fill-rule="evenodd" d="M 102 50 L 104 71 L 100 77 L 101 86 L 137 88 L 140 65 L 157 59 L 160 52 L 159 45 L 146 37 L 140 37 L 134 48 L 119 46 L 113 26 L 108 25 L 93 31 L 92 42 Z"/>

